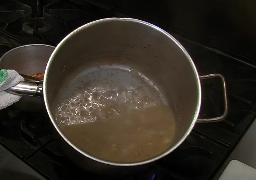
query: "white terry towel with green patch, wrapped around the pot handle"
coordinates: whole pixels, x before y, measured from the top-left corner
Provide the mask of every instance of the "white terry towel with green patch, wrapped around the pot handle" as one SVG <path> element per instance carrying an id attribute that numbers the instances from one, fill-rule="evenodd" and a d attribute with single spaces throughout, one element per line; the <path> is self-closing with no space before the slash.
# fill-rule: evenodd
<path id="1" fill-rule="evenodd" d="M 0 70 L 0 109 L 4 109 L 19 101 L 21 96 L 10 94 L 5 92 L 5 90 L 17 85 L 21 81 L 24 81 L 24 78 L 18 72 L 6 69 Z"/>

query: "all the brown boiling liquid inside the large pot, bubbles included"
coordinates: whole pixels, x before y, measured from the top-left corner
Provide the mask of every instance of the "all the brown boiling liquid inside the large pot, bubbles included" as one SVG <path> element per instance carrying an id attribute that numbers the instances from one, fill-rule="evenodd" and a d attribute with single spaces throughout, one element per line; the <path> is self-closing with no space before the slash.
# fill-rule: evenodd
<path id="1" fill-rule="evenodd" d="M 56 120 L 67 138 L 114 162 L 142 161 L 170 148 L 175 117 L 153 83 L 134 71 L 100 72 L 58 104 Z"/>

